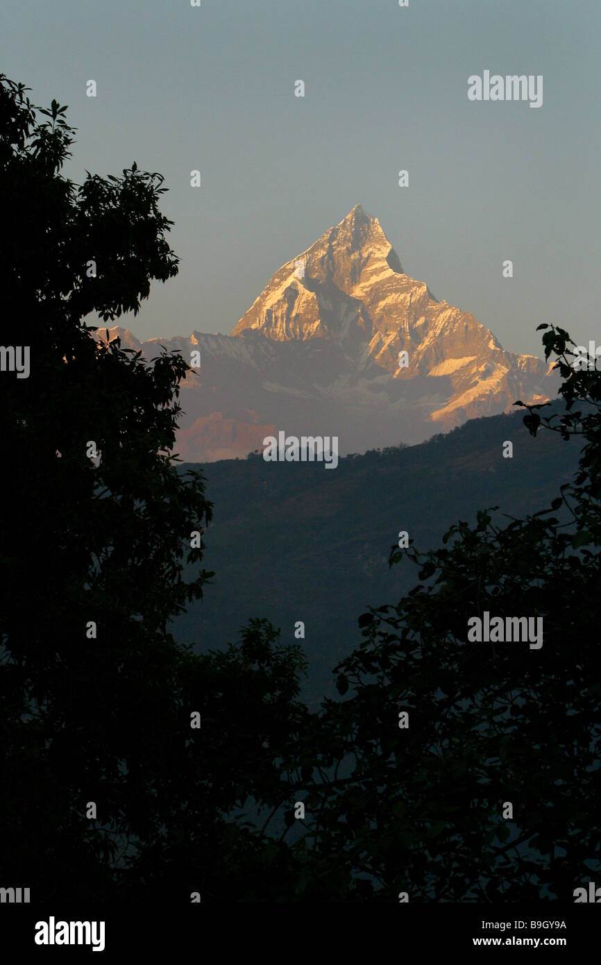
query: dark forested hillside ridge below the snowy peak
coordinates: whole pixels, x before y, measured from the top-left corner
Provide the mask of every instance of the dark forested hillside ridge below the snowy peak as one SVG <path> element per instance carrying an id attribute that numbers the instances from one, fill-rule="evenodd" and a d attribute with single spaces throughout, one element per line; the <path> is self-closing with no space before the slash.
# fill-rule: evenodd
<path id="1" fill-rule="evenodd" d="M 388 565 L 399 531 L 425 550 L 458 519 L 472 524 L 478 509 L 498 506 L 500 526 L 546 509 L 573 478 L 579 453 L 578 438 L 563 442 L 544 430 L 533 438 L 515 412 L 418 446 L 347 456 L 336 472 L 257 456 L 183 465 L 202 469 L 214 504 L 203 565 L 215 575 L 174 633 L 202 650 L 222 648 L 249 618 L 263 617 L 293 643 L 303 620 L 305 698 L 336 697 L 331 670 L 361 642 L 357 618 L 368 606 L 396 604 L 418 583 L 408 562 Z"/>

